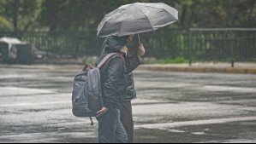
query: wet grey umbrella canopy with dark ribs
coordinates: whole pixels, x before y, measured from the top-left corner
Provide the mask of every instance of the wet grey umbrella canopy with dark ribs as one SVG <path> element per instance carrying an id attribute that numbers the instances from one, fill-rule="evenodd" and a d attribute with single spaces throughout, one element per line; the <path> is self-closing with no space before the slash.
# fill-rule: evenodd
<path id="1" fill-rule="evenodd" d="M 97 37 L 152 32 L 178 20 L 178 11 L 165 3 L 131 3 L 104 16 Z"/>

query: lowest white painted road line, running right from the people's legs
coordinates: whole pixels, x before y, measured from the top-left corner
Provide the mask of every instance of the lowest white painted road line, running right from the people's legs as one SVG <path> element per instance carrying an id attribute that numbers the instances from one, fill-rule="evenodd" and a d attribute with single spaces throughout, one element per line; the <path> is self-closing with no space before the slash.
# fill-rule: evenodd
<path id="1" fill-rule="evenodd" d="M 136 129 L 161 129 L 161 128 L 177 128 L 183 126 L 193 126 L 193 125 L 205 125 L 205 124 L 225 124 L 230 122 L 242 122 L 242 121 L 255 121 L 256 117 L 241 117 L 241 118 L 213 118 L 205 120 L 194 120 L 185 122 L 174 122 L 174 123 L 164 123 L 164 124 L 140 124 L 135 125 Z"/>

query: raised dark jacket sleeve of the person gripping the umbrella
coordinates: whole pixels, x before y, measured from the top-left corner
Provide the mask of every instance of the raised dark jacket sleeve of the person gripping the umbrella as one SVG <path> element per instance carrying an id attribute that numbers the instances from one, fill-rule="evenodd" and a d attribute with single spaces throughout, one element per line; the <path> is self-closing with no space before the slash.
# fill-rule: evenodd
<path id="1" fill-rule="evenodd" d="M 128 60 L 129 60 L 128 67 L 127 67 L 128 73 L 133 72 L 134 69 L 136 69 L 138 66 L 140 66 L 140 64 L 143 62 L 143 58 L 137 54 L 129 56 Z"/>

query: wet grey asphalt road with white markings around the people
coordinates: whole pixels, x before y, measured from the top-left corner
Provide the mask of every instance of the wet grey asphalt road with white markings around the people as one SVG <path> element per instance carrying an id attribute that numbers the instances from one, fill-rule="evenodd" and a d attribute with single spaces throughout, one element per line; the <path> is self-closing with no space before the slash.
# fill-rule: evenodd
<path id="1" fill-rule="evenodd" d="M 70 66 L 0 66 L 0 142 L 98 142 Z M 256 75 L 134 72 L 135 142 L 256 142 Z"/>

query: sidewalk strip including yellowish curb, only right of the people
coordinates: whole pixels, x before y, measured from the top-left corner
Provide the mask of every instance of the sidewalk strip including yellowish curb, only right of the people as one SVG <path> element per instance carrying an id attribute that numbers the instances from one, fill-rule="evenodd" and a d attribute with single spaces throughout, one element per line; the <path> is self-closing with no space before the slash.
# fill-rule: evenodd
<path id="1" fill-rule="evenodd" d="M 237 62 L 234 67 L 230 63 L 193 63 L 186 64 L 153 64 L 141 65 L 140 70 L 170 71 L 170 72 L 219 72 L 219 73 L 249 73 L 256 74 L 256 63 Z"/>

